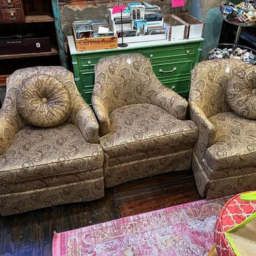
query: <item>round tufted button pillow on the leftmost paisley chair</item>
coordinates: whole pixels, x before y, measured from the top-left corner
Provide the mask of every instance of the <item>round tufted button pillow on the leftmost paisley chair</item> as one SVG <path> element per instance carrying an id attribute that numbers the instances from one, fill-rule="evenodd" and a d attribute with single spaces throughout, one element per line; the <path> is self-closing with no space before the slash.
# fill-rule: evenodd
<path id="1" fill-rule="evenodd" d="M 72 100 L 66 85 L 55 77 L 34 75 L 23 80 L 16 105 L 18 113 L 33 126 L 51 127 L 68 119 Z"/>

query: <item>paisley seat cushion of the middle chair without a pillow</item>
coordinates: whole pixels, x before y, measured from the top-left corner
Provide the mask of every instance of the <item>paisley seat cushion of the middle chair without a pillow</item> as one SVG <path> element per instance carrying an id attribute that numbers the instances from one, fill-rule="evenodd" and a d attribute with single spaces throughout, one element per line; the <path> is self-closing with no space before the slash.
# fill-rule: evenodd
<path id="1" fill-rule="evenodd" d="M 197 126 L 176 119 L 153 104 L 131 104 L 110 115 L 111 132 L 100 137 L 109 158 L 136 160 L 154 154 L 170 154 L 191 149 L 197 140 Z M 143 155 L 143 156 L 142 156 Z"/>

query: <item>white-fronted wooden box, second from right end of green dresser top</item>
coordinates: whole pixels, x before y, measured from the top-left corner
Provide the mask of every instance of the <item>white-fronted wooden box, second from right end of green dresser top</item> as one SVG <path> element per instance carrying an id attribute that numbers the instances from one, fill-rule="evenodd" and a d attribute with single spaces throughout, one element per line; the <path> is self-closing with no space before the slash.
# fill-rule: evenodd
<path id="1" fill-rule="evenodd" d="M 172 14 L 165 14 L 164 16 L 164 27 L 167 30 L 167 40 L 183 40 L 186 39 L 186 25 L 175 20 Z"/>

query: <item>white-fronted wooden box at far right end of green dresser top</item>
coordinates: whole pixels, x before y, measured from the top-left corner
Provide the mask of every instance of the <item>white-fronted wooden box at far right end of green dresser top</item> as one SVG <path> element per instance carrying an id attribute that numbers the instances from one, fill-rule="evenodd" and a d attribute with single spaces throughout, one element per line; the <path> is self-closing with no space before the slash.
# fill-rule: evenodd
<path id="1" fill-rule="evenodd" d="M 201 38 L 204 28 L 204 23 L 202 23 L 201 20 L 187 12 L 173 14 L 172 17 L 186 26 L 187 39 Z"/>

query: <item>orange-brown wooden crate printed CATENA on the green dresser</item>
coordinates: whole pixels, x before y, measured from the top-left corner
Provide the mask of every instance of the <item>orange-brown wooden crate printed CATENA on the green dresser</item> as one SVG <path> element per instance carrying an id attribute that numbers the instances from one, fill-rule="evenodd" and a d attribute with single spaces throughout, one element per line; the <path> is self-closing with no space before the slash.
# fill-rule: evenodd
<path id="1" fill-rule="evenodd" d="M 74 43 L 76 44 L 76 51 L 95 51 L 104 49 L 117 48 L 117 35 L 104 36 L 102 38 L 76 38 L 76 32 L 73 28 Z"/>

